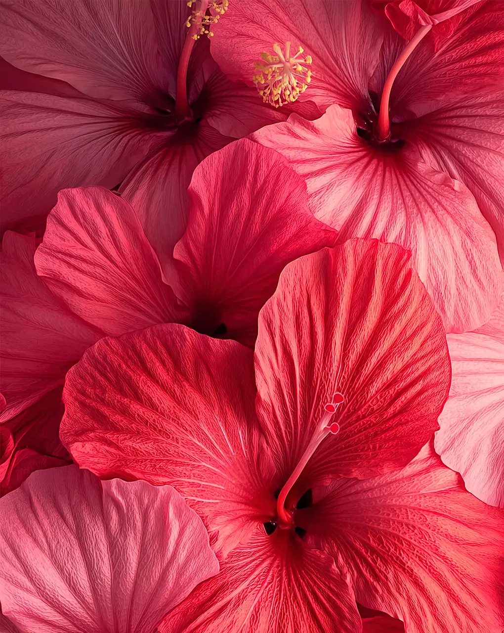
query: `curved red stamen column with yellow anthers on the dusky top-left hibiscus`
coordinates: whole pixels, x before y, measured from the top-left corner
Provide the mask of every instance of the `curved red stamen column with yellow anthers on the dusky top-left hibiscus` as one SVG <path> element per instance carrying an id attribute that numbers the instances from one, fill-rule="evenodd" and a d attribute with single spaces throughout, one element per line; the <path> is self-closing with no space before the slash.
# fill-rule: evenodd
<path id="1" fill-rule="evenodd" d="M 192 120 L 192 110 L 187 101 L 187 68 L 194 44 L 201 35 L 213 36 L 211 27 L 227 11 L 228 4 L 229 0 L 189 0 L 187 3 L 192 13 L 185 23 L 189 30 L 178 61 L 175 103 L 175 116 L 178 123 Z"/>

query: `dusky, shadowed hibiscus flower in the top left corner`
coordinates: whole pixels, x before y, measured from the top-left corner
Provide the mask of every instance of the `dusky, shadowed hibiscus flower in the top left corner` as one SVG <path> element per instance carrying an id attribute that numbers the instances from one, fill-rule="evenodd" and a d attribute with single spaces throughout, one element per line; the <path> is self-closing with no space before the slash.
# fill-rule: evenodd
<path id="1" fill-rule="evenodd" d="M 205 34 L 195 41 L 227 2 L 0 4 L 0 54 L 48 77 L 8 77 L 15 90 L 0 92 L 4 226 L 40 229 L 59 190 L 122 182 L 164 252 L 183 233 L 202 158 L 286 118 L 224 77 Z"/>

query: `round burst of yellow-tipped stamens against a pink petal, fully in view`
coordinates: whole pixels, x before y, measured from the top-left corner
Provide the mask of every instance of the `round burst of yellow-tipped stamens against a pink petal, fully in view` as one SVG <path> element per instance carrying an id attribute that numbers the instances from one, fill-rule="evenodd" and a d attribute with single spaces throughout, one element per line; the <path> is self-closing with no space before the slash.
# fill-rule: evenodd
<path id="1" fill-rule="evenodd" d="M 252 81 L 264 103 L 280 108 L 296 101 L 307 89 L 312 76 L 307 66 L 312 63 L 312 58 L 310 55 L 300 57 L 304 53 L 302 47 L 298 47 L 297 53 L 291 56 L 290 42 L 285 43 L 285 55 L 280 44 L 273 44 L 273 51 L 274 55 L 261 53 Z"/>

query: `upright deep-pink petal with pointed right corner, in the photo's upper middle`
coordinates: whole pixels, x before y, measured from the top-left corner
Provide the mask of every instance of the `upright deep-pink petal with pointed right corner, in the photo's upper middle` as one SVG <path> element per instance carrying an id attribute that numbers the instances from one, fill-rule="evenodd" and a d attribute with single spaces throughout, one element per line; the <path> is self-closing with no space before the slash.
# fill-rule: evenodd
<path id="1" fill-rule="evenodd" d="M 313 217 L 304 181 L 285 159 L 247 139 L 206 158 L 189 194 L 187 231 L 174 251 L 175 292 L 199 332 L 224 324 L 227 337 L 253 346 L 257 315 L 283 267 L 333 246 L 336 232 Z"/>

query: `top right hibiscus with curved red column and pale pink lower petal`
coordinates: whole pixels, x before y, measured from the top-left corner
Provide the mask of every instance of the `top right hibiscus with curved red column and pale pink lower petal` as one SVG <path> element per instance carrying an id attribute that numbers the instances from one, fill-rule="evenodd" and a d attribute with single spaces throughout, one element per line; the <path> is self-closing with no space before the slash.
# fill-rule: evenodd
<path id="1" fill-rule="evenodd" d="M 254 139 L 304 176 L 314 213 L 341 241 L 378 237 L 410 249 L 446 329 L 476 329 L 500 296 L 496 243 L 504 261 L 503 4 L 466 7 L 450 18 L 458 21 L 451 37 L 440 35 L 445 20 L 410 42 L 369 5 L 230 6 L 212 53 L 251 82 L 274 42 L 304 49 L 312 73 L 299 100 L 326 114 L 314 123 L 292 115 Z M 300 80 L 288 75 L 298 63 L 291 58 L 262 59 L 263 78 L 266 66 L 281 66 L 286 82 Z"/>

